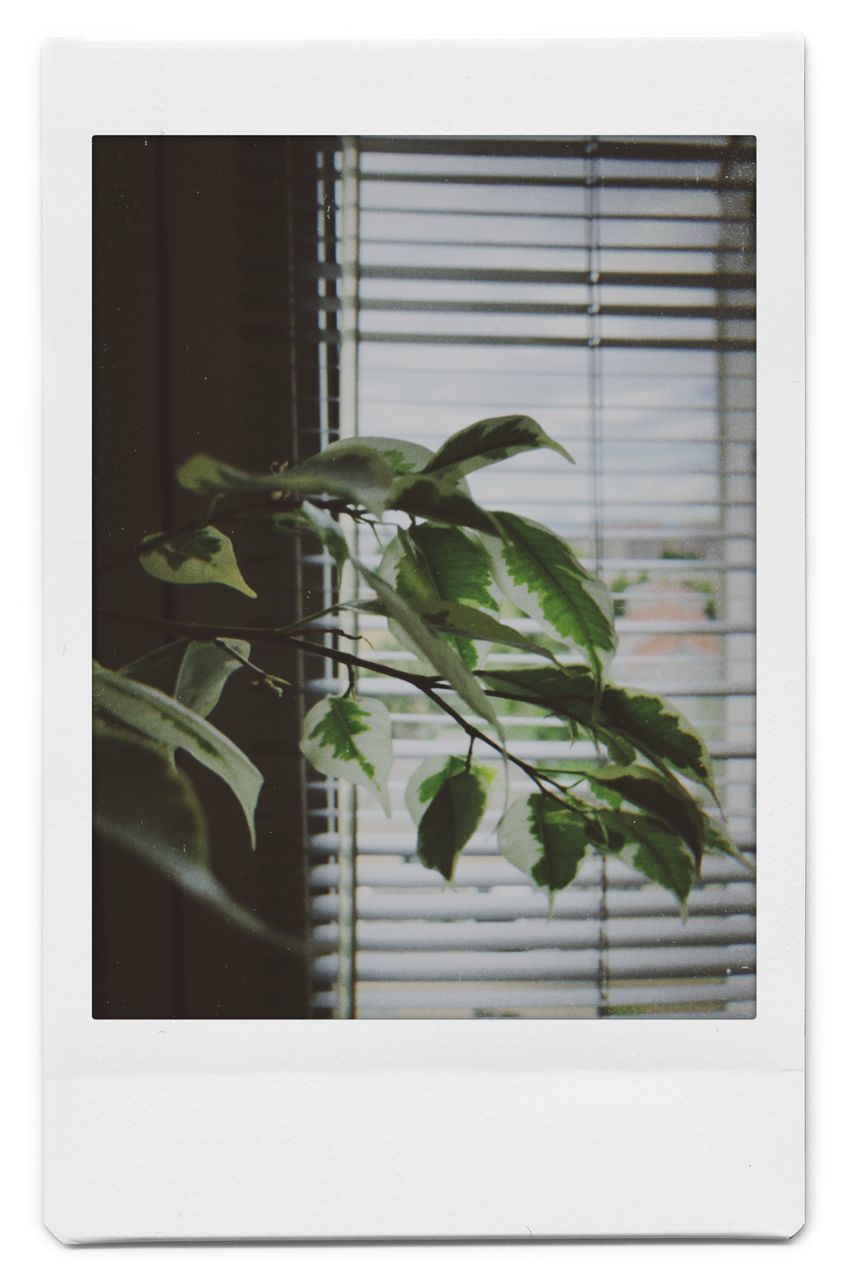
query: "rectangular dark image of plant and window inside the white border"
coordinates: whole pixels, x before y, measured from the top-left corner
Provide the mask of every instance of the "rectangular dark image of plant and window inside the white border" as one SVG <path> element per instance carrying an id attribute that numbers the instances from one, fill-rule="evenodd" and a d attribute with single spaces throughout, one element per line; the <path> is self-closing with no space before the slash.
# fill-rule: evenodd
<path id="1" fill-rule="evenodd" d="M 99 1019 L 756 1016 L 756 142 L 92 140 Z"/>

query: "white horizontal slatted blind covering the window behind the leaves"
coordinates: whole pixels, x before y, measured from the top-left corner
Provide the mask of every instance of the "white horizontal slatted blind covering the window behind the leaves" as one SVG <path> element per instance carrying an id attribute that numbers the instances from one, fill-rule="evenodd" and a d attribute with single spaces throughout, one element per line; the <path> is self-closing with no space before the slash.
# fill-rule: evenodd
<path id="1" fill-rule="evenodd" d="M 341 353 L 342 430 L 435 448 L 521 412 L 570 451 L 574 467 L 534 453 L 476 472 L 474 497 L 557 530 L 608 582 L 613 678 L 706 736 L 747 865 L 708 855 L 683 920 L 593 856 L 549 914 L 497 855 L 496 794 L 447 887 L 416 860 L 403 788 L 466 740 L 410 686 L 362 676 L 392 712 L 393 814 L 310 783 L 315 1014 L 753 1016 L 754 142 L 364 138 L 334 169 L 318 209 L 334 260 L 306 266 L 305 297 Z M 357 626 L 365 654 L 407 662 L 380 618 Z M 332 669 L 313 685 L 336 687 Z M 520 754 L 583 751 L 507 708 Z"/>

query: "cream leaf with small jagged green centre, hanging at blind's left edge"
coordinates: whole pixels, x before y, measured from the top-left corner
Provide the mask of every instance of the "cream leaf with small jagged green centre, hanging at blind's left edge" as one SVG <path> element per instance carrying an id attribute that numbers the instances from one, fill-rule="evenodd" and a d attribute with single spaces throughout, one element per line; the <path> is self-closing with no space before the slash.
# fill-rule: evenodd
<path id="1" fill-rule="evenodd" d="M 375 698 L 332 695 L 305 717 L 302 754 L 319 773 L 369 787 L 391 817 L 391 716 Z"/>

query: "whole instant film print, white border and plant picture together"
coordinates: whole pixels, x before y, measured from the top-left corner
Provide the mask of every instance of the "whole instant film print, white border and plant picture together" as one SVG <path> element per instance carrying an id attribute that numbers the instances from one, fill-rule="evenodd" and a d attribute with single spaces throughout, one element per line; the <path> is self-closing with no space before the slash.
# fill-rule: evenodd
<path id="1" fill-rule="evenodd" d="M 800 42 L 44 120 L 49 1228 L 794 1234 Z"/>

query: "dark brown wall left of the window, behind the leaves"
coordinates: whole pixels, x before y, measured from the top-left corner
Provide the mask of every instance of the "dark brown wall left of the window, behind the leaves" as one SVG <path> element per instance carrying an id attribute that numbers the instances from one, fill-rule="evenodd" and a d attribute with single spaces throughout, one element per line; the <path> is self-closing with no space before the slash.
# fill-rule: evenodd
<path id="1" fill-rule="evenodd" d="M 316 145 L 289 138 L 95 138 L 93 522 L 96 571 L 143 534 L 197 515 L 175 466 L 205 451 L 266 468 L 318 444 L 320 399 L 300 264 L 316 257 Z M 311 447 L 314 444 L 314 447 Z M 96 611 L 167 620 L 291 621 L 319 585 L 296 544 L 228 529 L 248 602 L 227 588 L 169 588 L 134 562 L 96 572 Z M 105 666 L 173 639 L 95 616 Z M 254 657 L 298 686 L 280 648 Z M 277 699 L 234 675 L 214 719 L 266 785 L 257 850 L 231 792 L 204 771 L 214 870 L 272 923 L 306 936 L 304 765 L 298 692 Z M 204 776 L 202 776 L 204 774 Z M 96 1018 L 307 1016 L 304 960 L 225 925 L 142 864 L 93 854 L 92 1011 Z"/>

